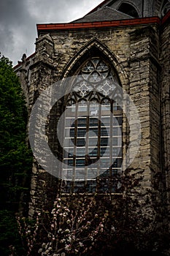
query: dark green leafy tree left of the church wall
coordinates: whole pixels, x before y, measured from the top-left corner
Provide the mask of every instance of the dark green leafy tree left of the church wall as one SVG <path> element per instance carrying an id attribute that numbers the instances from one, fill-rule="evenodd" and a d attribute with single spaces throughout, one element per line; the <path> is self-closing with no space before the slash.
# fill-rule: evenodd
<path id="1" fill-rule="evenodd" d="M 0 56 L 0 120 L 0 251 L 9 255 L 11 235 L 18 236 L 17 223 L 11 225 L 9 219 L 15 220 L 18 208 L 27 208 L 32 157 L 26 145 L 26 102 L 12 62 L 4 56 Z"/>

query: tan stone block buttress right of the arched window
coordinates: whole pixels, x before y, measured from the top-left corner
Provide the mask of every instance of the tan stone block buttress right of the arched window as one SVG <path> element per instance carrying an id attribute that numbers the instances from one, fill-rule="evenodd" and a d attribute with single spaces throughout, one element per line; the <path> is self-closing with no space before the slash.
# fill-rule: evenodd
<path id="1" fill-rule="evenodd" d="M 158 61 L 155 53 L 158 38 L 151 27 L 130 33 L 130 96 L 139 110 L 142 138 L 139 152 L 131 165 L 133 171 L 144 171 L 142 184 L 153 186 L 153 173 L 160 171 L 160 106 Z"/>

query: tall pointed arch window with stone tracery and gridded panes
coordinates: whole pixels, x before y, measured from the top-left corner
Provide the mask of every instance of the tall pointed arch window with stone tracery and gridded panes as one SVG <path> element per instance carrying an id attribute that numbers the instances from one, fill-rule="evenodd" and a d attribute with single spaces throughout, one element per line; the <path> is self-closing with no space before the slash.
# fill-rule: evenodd
<path id="1" fill-rule="evenodd" d="M 115 71 L 99 57 L 85 61 L 73 82 L 65 103 L 64 192 L 115 192 L 123 122 L 117 83 Z"/>

